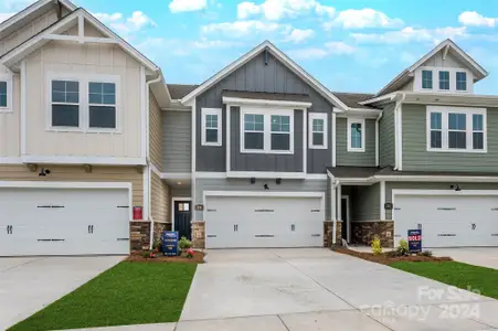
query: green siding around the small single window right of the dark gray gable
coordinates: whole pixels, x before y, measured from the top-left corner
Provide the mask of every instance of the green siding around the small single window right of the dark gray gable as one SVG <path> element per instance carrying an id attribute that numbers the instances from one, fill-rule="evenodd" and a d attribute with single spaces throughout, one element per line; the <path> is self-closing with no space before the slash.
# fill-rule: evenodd
<path id="1" fill-rule="evenodd" d="M 348 152 L 348 119 L 337 118 L 337 166 L 375 167 L 375 120 L 365 119 L 364 152 Z"/>

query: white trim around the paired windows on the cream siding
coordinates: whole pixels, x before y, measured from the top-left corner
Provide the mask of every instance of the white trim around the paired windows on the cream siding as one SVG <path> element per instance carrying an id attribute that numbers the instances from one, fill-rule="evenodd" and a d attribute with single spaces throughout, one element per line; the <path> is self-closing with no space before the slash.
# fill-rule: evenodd
<path id="1" fill-rule="evenodd" d="M 121 134 L 121 103 L 120 103 L 120 76 L 118 75 L 98 75 L 84 73 L 47 73 L 46 95 L 46 131 L 53 132 L 102 132 L 102 134 Z M 52 126 L 52 81 L 74 81 L 80 84 L 80 127 L 53 127 Z M 89 127 L 89 104 L 88 104 L 88 83 L 114 83 L 116 84 L 116 128 L 91 128 Z"/>

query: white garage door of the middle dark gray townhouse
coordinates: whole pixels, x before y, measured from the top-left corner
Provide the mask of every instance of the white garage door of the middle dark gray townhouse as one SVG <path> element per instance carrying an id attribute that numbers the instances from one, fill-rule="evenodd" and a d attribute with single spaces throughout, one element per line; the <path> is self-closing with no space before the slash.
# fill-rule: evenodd
<path id="1" fill-rule="evenodd" d="M 320 247 L 321 197 L 209 196 L 208 248 Z"/>

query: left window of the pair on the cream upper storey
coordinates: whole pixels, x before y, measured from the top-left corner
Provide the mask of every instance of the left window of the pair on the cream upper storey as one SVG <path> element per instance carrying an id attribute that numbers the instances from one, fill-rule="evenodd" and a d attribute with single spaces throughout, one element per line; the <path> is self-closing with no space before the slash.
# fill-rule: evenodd
<path id="1" fill-rule="evenodd" d="M 52 81 L 52 127 L 80 128 L 80 82 Z"/>

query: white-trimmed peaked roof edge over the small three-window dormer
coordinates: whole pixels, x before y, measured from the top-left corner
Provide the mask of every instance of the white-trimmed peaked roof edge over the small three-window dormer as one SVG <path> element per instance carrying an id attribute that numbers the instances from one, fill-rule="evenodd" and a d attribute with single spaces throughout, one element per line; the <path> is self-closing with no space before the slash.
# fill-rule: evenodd
<path id="1" fill-rule="evenodd" d="M 427 60 L 433 57 L 438 52 L 444 51 L 445 54 L 448 51 L 452 51 L 452 54 L 455 55 L 462 63 L 468 66 L 468 68 L 474 73 L 474 77 L 477 81 L 483 79 L 488 75 L 488 72 L 485 71 L 474 58 L 471 58 L 467 53 L 465 53 L 460 47 L 458 47 L 451 39 L 445 40 L 435 46 L 431 52 L 422 56 L 417 62 L 415 62 L 410 67 L 405 68 L 394 79 L 389 82 L 375 96 L 384 95 L 391 92 L 394 92 L 402 87 L 404 84 L 410 81 L 413 75 L 413 72 L 423 65 Z"/>

